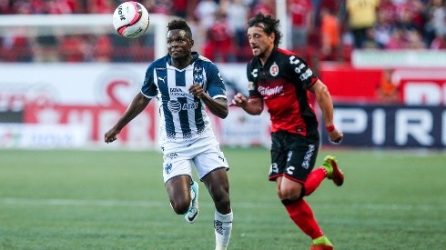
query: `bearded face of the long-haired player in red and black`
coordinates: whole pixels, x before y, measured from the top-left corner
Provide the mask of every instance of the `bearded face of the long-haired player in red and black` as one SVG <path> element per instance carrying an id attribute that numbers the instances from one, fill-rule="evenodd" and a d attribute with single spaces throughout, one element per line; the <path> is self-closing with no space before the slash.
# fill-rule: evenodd
<path id="1" fill-rule="evenodd" d="M 248 41 L 249 45 L 251 45 L 252 54 L 259 57 L 269 55 L 269 52 L 274 48 L 274 37 L 274 33 L 271 35 L 266 34 L 263 27 L 249 27 Z"/>

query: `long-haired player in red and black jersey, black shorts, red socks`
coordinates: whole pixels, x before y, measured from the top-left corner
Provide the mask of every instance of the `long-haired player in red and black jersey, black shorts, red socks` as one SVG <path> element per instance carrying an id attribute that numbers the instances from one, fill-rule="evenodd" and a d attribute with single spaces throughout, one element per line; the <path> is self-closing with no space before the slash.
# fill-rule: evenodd
<path id="1" fill-rule="evenodd" d="M 248 21 L 248 41 L 254 58 L 248 63 L 249 96 L 234 96 L 232 105 L 250 115 L 267 106 L 271 119 L 269 180 L 277 184 L 282 204 L 296 225 L 312 239 L 309 249 L 333 249 L 304 200 L 328 177 L 342 185 L 344 175 L 333 156 L 313 170 L 319 152 L 318 120 L 309 100 L 316 96 L 329 139 L 340 143 L 342 133 L 333 125 L 333 103 L 326 85 L 307 63 L 293 52 L 279 48 L 279 20 L 258 14 Z"/>

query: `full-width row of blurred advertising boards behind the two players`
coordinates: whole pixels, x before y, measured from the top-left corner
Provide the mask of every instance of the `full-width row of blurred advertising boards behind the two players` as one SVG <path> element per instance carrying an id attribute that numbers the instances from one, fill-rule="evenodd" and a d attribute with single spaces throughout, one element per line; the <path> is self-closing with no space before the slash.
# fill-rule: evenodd
<path id="1" fill-rule="evenodd" d="M 248 93 L 245 65 L 218 66 L 229 98 L 237 92 Z M 147 64 L 2 64 L 0 147 L 104 146 L 106 129 L 139 91 L 146 67 Z M 438 69 L 418 71 L 410 74 L 413 70 L 395 70 L 402 87 L 401 103 L 382 105 L 377 103 L 374 92 L 382 70 L 346 66 L 339 71 L 324 71 L 322 67 L 321 78 L 335 100 L 336 124 L 346 135 L 342 145 L 443 148 L 446 115 L 442 104 L 446 92 L 441 90 L 446 75 Z M 363 77 L 364 72 L 370 77 Z M 361 76 L 361 81 L 355 80 Z M 117 144 L 108 146 L 157 149 L 155 103 L 127 126 Z M 269 146 L 267 112 L 251 116 L 232 107 L 227 119 L 213 119 L 222 145 Z M 322 143 L 329 145 L 325 135 Z"/>

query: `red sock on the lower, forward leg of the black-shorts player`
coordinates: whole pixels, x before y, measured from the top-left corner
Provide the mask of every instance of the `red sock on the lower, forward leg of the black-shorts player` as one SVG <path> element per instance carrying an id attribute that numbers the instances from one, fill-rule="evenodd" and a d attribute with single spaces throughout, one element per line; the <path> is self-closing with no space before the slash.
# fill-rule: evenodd
<path id="1" fill-rule="evenodd" d="M 299 199 L 290 205 L 285 205 L 285 208 L 293 222 L 311 239 L 314 240 L 324 235 L 306 201 Z"/>

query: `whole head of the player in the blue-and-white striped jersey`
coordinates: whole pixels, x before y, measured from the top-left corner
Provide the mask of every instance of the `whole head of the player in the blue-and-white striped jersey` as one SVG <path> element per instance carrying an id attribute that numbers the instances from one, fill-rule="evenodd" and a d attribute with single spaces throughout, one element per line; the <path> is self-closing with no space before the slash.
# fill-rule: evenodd
<path id="1" fill-rule="evenodd" d="M 167 25 L 167 52 L 176 59 L 190 55 L 194 40 L 186 21 L 172 20 Z"/>

